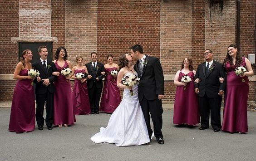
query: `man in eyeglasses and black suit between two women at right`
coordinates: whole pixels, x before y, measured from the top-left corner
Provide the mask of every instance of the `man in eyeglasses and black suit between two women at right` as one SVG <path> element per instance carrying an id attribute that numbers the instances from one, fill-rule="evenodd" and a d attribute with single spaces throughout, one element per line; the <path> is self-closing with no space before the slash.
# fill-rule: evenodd
<path id="1" fill-rule="evenodd" d="M 195 79 L 200 82 L 195 83 L 195 92 L 198 94 L 199 110 L 201 117 L 200 130 L 209 128 L 209 116 L 211 111 L 211 126 L 214 132 L 221 130 L 221 104 L 222 95 L 226 87 L 226 73 L 222 63 L 213 59 L 212 50 L 204 51 L 205 62 L 197 67 Z M 219 78 L 224 78 L 220 83 Z"/>

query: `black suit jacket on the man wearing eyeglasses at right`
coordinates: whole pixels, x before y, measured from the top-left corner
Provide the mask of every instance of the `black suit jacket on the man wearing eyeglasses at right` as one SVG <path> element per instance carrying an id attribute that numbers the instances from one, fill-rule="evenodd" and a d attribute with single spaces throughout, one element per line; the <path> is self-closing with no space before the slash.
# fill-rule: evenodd
<path id="1" fill-rule="evenodd" d="M 199 78 L 199 83 L 194 83 L 194 88 L 199 88 L 199 97 L 203 97 L 205 93 L 208 98 L 217 98 L 219 97 L 219 90 L 225 91 L 226 87 L 226 73 L 223 68 L 222 63 L 213 61 L 212 66 L 209 68 L 210 72 L 206 76 L 205 73 L 206 62 L 201 63 L 197 67 L 197 73 L 195 79 Z M 212 69 L 211 69 L 212 68 Z M 219 78 L 225 78 L 224 83 L 219 82 Z"/>

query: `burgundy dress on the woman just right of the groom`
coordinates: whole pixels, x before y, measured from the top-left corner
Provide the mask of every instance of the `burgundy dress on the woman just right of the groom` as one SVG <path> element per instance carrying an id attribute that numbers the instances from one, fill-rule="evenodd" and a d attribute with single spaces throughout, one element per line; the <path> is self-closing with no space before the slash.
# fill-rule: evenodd
<path id="1" fill-rule="evenodd" d="M 180 71 L 179 81 L 183 75 L 186 75 Z M 197 94 L 194 90 L 194 73 L 191 71 L 187 73 L 187 76 L 191 78 L 191 82 L 185 86 L 177 86 L 174 111 L 173 111 L 173 123 L 174 124 L 187 124 L 196 125 L 200 123 L 199 119 L 199 107 L 197 102 Z"/>

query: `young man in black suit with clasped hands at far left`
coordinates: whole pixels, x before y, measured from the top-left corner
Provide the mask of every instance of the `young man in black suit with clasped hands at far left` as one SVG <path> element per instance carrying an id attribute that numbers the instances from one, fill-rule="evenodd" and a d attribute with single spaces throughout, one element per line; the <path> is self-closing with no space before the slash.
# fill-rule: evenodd
<path id="1" fill-rule="evenodd" d="M 47 60 L 48 50 L 46 46 L 38 48 L 40 59 L 38 62 L 33 63 L 32 67 L 37 69 L 40 73 L 40 82 L 36 83 L 35 96 L 36 96 L 36 122 L 39 130 L 44 129 L 44 102 L 46 108 L 45 124 L 48 130 L 53 129 L 53 114 L 54 114 L 54 84 L 56 80 L 53 72 L 57 71 L 53 62 Z"/>

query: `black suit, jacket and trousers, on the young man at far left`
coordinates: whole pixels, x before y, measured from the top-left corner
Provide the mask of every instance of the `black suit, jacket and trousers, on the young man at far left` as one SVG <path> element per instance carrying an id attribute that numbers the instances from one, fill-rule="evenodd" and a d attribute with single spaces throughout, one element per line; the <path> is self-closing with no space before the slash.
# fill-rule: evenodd
<path id="1" fill-rule="evenodd" d="M 39 71 L 40 82 L 34 80 L 36 83 L 35 94 L 36 94 L 36 122 L 38 127 L 44 126 L 44 102 L 46 108 L 45 123 L 47 127 L 53 125 L 53 109 L 54 109 L 54 81 L 55 76 L 53 72 L 57 71 L 56 66 L 53 62 L 47 61 L 47 73 L 44 70 L 42 62 L 39 60 L 32 64 L 34 69 Z M 50 84 L 48 86 L 43 85 L 43 79 L 49 78 Z"/>

